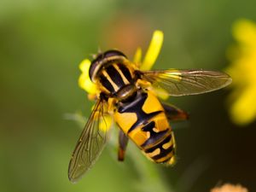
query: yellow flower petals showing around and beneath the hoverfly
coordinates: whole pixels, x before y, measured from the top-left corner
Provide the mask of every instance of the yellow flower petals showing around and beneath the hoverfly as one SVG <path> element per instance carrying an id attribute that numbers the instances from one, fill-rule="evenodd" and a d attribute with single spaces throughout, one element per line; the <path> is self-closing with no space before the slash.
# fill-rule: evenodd
<path id="1" fill-rule="evenodd" d="M 164 34 L 161 31 L 155 31 L 153 34 L 153 38 L 151 40 L 151 43 L 149 44 L 148 51 L 143 59 L 142 62 L 142 49 L 138 48 L 135 55 L 134 55 L 134 63 L 140 67 L 142 70 L 149 70 L 153 65 L 154 61 L 156 61 L 161 46 L 163 44 L 163 38 Z M 81 75 L 79 76 L 79 87 L 83 90 L 88 92 L 88 97 L 90 99 L 95 98 L 97 94 L 97 88 L 96 84 L 91 82 L 90 76 L 89 76 L 89 70 L 90 70 L 90 60 L 85 59 L 79 64 L 79 69 L 81 70 Z M 166 98 L 167 95 L 163 92 L 160 94 L 162 98 Z M 112 118 L 110 115 L 104 116 L 104 121 L 100 122 L 100 129 L 102 131 L 108 131 L 108 129 L 111 126 Z"/>

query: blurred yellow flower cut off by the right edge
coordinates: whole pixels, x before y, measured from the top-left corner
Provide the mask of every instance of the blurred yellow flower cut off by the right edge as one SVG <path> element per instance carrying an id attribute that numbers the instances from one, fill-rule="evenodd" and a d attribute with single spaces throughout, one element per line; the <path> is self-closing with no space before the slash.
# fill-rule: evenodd
<path id="1" fill-rule="evenodd" d="M 237 125 L 247 125 L 256 118 L 256 24 L 238 20 L 232 33 L 238 44 L 228 51 L 231 66 L 226 72 L 233 79 L 230 117 Z"/>

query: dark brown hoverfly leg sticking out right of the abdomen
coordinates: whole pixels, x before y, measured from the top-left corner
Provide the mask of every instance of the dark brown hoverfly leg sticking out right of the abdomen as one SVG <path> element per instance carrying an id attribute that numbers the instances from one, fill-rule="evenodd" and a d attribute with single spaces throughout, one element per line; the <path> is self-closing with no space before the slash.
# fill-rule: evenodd
<path id="1" fill-rule="evenodd" d="M 178 120 L 187 120 L 189 119 L 189 114 L 177 108 L 176 106 L 162 103 L 163 108 L 166 111 L 167 119 L 171 121 L 178 121 Z"/>

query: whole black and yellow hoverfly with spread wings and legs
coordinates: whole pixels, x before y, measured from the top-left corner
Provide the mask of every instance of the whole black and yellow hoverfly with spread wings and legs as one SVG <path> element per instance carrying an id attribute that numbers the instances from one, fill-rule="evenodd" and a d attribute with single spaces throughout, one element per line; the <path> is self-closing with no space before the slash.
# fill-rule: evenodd
<path id="1" fill-rule="evenodd" d="M 183 110 L 160 102 L 158 91 L 170 96 L 195 95 L 230 84 L 230 76 L 207 70 L 140 71 L 119 50 L 108 50 L 91 62 L 90 79 L 96 84 L 96 104 L 77 143 L 68 167 L 76 182 L 95 163 L 108 140 L 102 129 L 111 114 L 119 126 L 118 159 L 124 160 L 128 140 L 136 143 L 149 160 L 172 165 L 176 143 L 169 121 L 183 120 Z"/>

